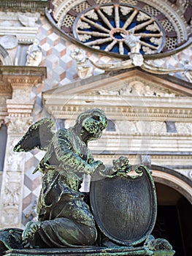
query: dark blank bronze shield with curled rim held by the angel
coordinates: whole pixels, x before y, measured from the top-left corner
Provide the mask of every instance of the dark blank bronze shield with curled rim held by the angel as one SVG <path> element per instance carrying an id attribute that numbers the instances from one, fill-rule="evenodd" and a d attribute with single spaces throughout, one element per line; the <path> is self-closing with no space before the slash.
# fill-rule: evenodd
<path id="1" fill-rule="evenodd" d="M 153 230 L 157 203 L 155 184 L 144 165 L 139 175 L 119 173 L 112 178 L 91 181 L 93 216 L 107 238 L 126 246 L 140 244 Z"/>

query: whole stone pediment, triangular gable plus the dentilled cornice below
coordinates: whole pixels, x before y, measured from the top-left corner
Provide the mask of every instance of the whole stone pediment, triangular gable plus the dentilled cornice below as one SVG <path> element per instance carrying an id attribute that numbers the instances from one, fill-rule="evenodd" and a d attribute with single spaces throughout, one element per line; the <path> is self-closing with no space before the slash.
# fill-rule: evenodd
<path id="1" fill-rule="evenodd" d="M 42 94 L 54 118 L 74 118 L 101 108 L 111 120 L 192 120 L 191 83 L 171 75 L 152 75 L 139 68 L 77 80 Z"/>

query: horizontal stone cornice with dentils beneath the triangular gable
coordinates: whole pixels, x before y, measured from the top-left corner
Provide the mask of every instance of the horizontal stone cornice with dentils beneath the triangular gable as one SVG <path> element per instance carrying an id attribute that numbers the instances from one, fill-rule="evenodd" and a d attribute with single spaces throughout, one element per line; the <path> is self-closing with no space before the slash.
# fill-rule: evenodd
<path id="1" fill-rule="evenodd" d="M 80 96 L 69 100 L 69 95 L 60 97 L 44 95 L 45 109 L 55 118 L 72 118 L 88 108 L 102 108 L 112 120 L 139 121 L 192 121 L 191 97 L 116 97 Z"/>

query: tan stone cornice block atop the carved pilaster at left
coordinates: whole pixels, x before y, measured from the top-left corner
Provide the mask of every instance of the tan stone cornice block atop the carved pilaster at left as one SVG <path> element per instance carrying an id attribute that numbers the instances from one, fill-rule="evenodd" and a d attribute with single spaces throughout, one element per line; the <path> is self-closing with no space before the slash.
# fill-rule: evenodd
<path id="1" fill-rule="evenodd" d="M 30 95 L 33 86 L 46 78 L 46 67 L 0 66 L 0 119 L 5 116 L 31 116 L 34 102 Z"/>

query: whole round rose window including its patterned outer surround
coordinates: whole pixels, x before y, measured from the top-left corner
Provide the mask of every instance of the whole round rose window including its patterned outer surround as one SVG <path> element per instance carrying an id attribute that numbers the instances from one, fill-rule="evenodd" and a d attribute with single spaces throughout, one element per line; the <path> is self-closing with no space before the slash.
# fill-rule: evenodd
<path id="1" fill-rule="evenodd" d="M 171 0 L 53 0 L 47 18 L 64 37 L 96 52 L 125 58 L 126 38 L 140 53 L 167 56 L 192 42 L 191 5 Z"/>

